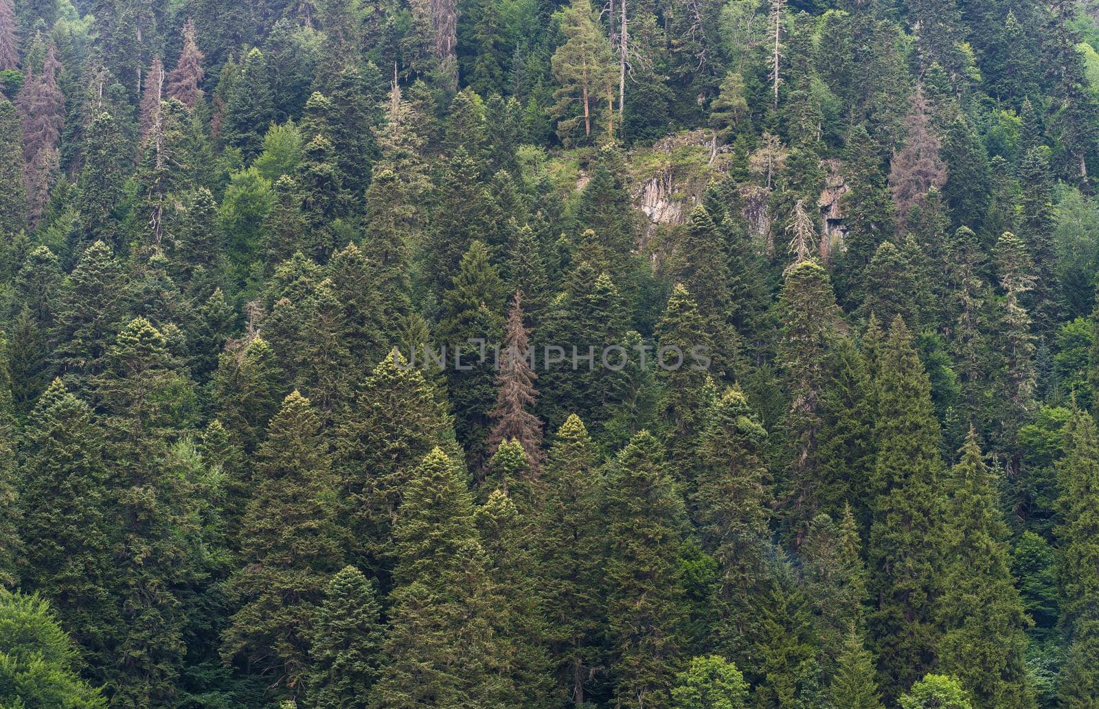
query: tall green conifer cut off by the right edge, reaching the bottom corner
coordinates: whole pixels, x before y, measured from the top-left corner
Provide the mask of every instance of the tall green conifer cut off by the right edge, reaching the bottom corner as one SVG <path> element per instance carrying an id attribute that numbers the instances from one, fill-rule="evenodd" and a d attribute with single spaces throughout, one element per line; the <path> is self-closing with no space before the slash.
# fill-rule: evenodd
<path id="1" fill-rule="evenodd" d="M 1067 657 L 1059 682 L 1061 706 L 1089 709 L 1099 688 L 1099 623 L 1095 619 L 1099 519 L 1099 434 L 1086 412 L 1075 412 L 1068 424 L 1065 455 L 1057 463 L 1061 488 L 1058 508 L 1063 522 L 1058 583 L 1061 624 L 1067 640 Z"/>

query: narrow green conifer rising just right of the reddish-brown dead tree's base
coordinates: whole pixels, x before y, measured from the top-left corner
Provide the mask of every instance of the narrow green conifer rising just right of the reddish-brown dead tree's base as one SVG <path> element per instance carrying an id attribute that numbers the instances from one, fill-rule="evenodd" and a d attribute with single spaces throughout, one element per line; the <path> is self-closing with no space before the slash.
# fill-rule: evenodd
<path id="1" fill-rule="evenodd" d="M 584 423 L 569 416 L 558 429 L 542 474 L 537 549 L 545 575 L 550 656 L 562 694 L 585 705 L 602 664 L 603 518 L 598 449 Z"/>

